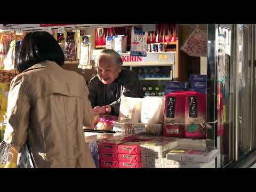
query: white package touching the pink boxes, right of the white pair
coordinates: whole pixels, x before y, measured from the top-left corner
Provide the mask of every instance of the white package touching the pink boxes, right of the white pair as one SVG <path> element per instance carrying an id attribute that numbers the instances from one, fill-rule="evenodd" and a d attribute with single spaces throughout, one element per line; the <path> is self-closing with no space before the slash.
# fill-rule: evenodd
<path id="1" fill-rule="evenodd" d="M 146 97 L 141 100 L 141 122 L 158 124 L 162 122 L 164 111 L 163 97 Z"/>

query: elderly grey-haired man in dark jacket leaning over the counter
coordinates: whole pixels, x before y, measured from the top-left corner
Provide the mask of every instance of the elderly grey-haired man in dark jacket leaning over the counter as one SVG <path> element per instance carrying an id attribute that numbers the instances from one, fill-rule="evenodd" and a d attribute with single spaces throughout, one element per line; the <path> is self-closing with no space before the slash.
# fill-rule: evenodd
<path id="1" fill-rule="evenodd" d="M 137 74 L 122 68 L 123 61 L 117 52 L 103 50 L 95 62 L 98 74 L 88 85 L 94 115 L 119 115 L 121 94 L 141 98 Z"/>

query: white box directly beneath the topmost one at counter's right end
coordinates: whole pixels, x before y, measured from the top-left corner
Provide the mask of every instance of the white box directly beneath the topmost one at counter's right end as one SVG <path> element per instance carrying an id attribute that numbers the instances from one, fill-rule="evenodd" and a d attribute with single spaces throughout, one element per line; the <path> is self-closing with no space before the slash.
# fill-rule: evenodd
<path id="1" fill-rule="evenodd" d="M 188 167 L 188 168 L 203 168 L 203 167 L 212 166 L 214 164 L 214 167 L 215 167 L 215 159 L 211 163 L 199 163 L 199 162 L 178 162 L 178 161 L 162 158 L 161 164 L 178 166 L 178 167 Z"/>

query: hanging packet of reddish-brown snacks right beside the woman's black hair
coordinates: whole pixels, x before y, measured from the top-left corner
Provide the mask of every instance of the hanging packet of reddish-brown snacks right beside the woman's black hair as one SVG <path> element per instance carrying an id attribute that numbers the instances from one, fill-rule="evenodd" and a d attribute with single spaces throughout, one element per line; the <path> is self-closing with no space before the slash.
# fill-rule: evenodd
<path id="1" fill-rule="evenodd" d="M 76 60 L 76 33 L 65 32 L 65 60 Z"/>

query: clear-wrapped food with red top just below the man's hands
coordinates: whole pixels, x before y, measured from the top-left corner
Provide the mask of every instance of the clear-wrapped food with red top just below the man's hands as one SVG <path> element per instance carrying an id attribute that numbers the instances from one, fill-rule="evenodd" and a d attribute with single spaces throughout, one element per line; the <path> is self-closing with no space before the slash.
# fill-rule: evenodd
<path id="1" fill-rule="evenodd" d="M 117 116 L 101 115 L 98 118 L 98 123 L 95 128 L 97 130 L 113 130 L 114 123 L 117 119 Z"/>

